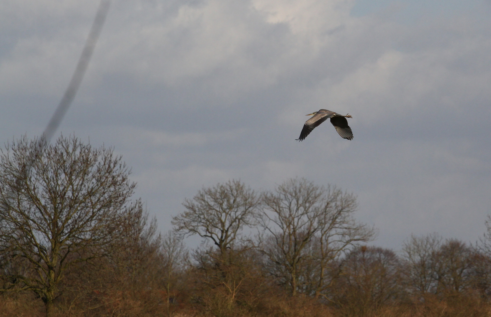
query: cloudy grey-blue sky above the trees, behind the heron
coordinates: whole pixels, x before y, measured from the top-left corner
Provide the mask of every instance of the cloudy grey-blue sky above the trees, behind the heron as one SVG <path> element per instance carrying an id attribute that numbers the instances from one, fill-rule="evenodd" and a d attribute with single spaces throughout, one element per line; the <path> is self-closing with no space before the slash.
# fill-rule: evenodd
<path id="1" fill-rule="evenodd" d="M 430 2 L 431 4 L 428 4 Z M 39 135 L 99 0 L 0 1 L 0 140 Z M 491 213 L 490 0 L 115 0 L 60 129 L 113 146 L 163 231 L 202 186 L 358 196 L 373 244 Z M 353 115 L 352 141 L 305 114 Z"/>

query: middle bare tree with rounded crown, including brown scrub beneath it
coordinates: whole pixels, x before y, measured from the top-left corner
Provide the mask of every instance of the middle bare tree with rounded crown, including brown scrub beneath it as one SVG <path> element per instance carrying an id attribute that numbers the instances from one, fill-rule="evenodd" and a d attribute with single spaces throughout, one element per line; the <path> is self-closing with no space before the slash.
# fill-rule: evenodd
<path id="1" fill-rule="evenodd" d="M 215 303 L 211 298 L 218 296 L 218 302 L 226 302 L 224 307 L 217 306 L 218 311 L 229 311 L 248 275 L 243 258 L 252 245 L 242 234 L 256 221 L 257 195 L 240 181 L 232 180 L 199 190 L 183 205 L 187 211 L 172 221 L 176 231 L 185 235 L 197 234 L 213 241 L 215 247 L 196 250 L 194 254 L 197 285 L 215 290 L 200 298 Z"/>

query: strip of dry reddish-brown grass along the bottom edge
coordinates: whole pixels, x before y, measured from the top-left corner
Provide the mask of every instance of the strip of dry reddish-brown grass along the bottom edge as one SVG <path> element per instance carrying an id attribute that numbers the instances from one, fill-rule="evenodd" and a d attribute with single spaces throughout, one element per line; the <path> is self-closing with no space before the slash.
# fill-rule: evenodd
<path id="1" fill-rule="evenodd" d="M 102 295 L 101 295 L 102 296 Z M 211 298 L 209 298 L 211 300 Z M 56 317 L 491 317 L 491 305 L 477 296 L 428 296 L 423 301 L 385 305 L 377 310 L 327 307 L 313 298 L 269 294 L 254 305 L 234 304 L 217 310 L 213 305 L 174 305 L 167 314 L 159 291 L 106 293 L 95 309 L 58 303 Z M 80 303 L 82 304 L 82 303 Z M 203 304 L 203 303 L 202 303 Z M 208 304 L 212 304 L 208 302 Z M 169 316 L 170 315 L 170 316 Z M 44 305 L 29 294 L 0 299 L 0 317 L 43 317 Z"/>

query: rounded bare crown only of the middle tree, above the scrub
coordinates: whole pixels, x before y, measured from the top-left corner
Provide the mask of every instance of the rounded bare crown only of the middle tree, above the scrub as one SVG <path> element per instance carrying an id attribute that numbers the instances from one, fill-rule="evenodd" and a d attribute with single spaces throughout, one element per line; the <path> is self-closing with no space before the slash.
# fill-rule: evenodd
<path id="1" fill-rule="evenodd" d="M 211 239 L 225 256 L 243 229 L 254 224 L 258 198 L 254 190 L 232 180 L 202 188 L 183 205 L 187 211 L 172 220 L 176 231 Z"/>

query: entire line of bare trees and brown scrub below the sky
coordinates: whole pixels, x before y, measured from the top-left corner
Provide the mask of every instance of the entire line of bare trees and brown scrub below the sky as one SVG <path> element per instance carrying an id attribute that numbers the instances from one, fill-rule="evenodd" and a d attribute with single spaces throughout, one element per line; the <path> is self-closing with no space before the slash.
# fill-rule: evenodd
<path id="1" fill-rule="evenodd" d="M 7 144 L 0 317 L 491 315 L 488 233 L 473 245 L 430 234 L 397 253 L 370 246 L 355 195 L 296 178 L 272 191 L 202 188 L 160 235 L 129 173 L 111 149 L 74 137 Z"/>

